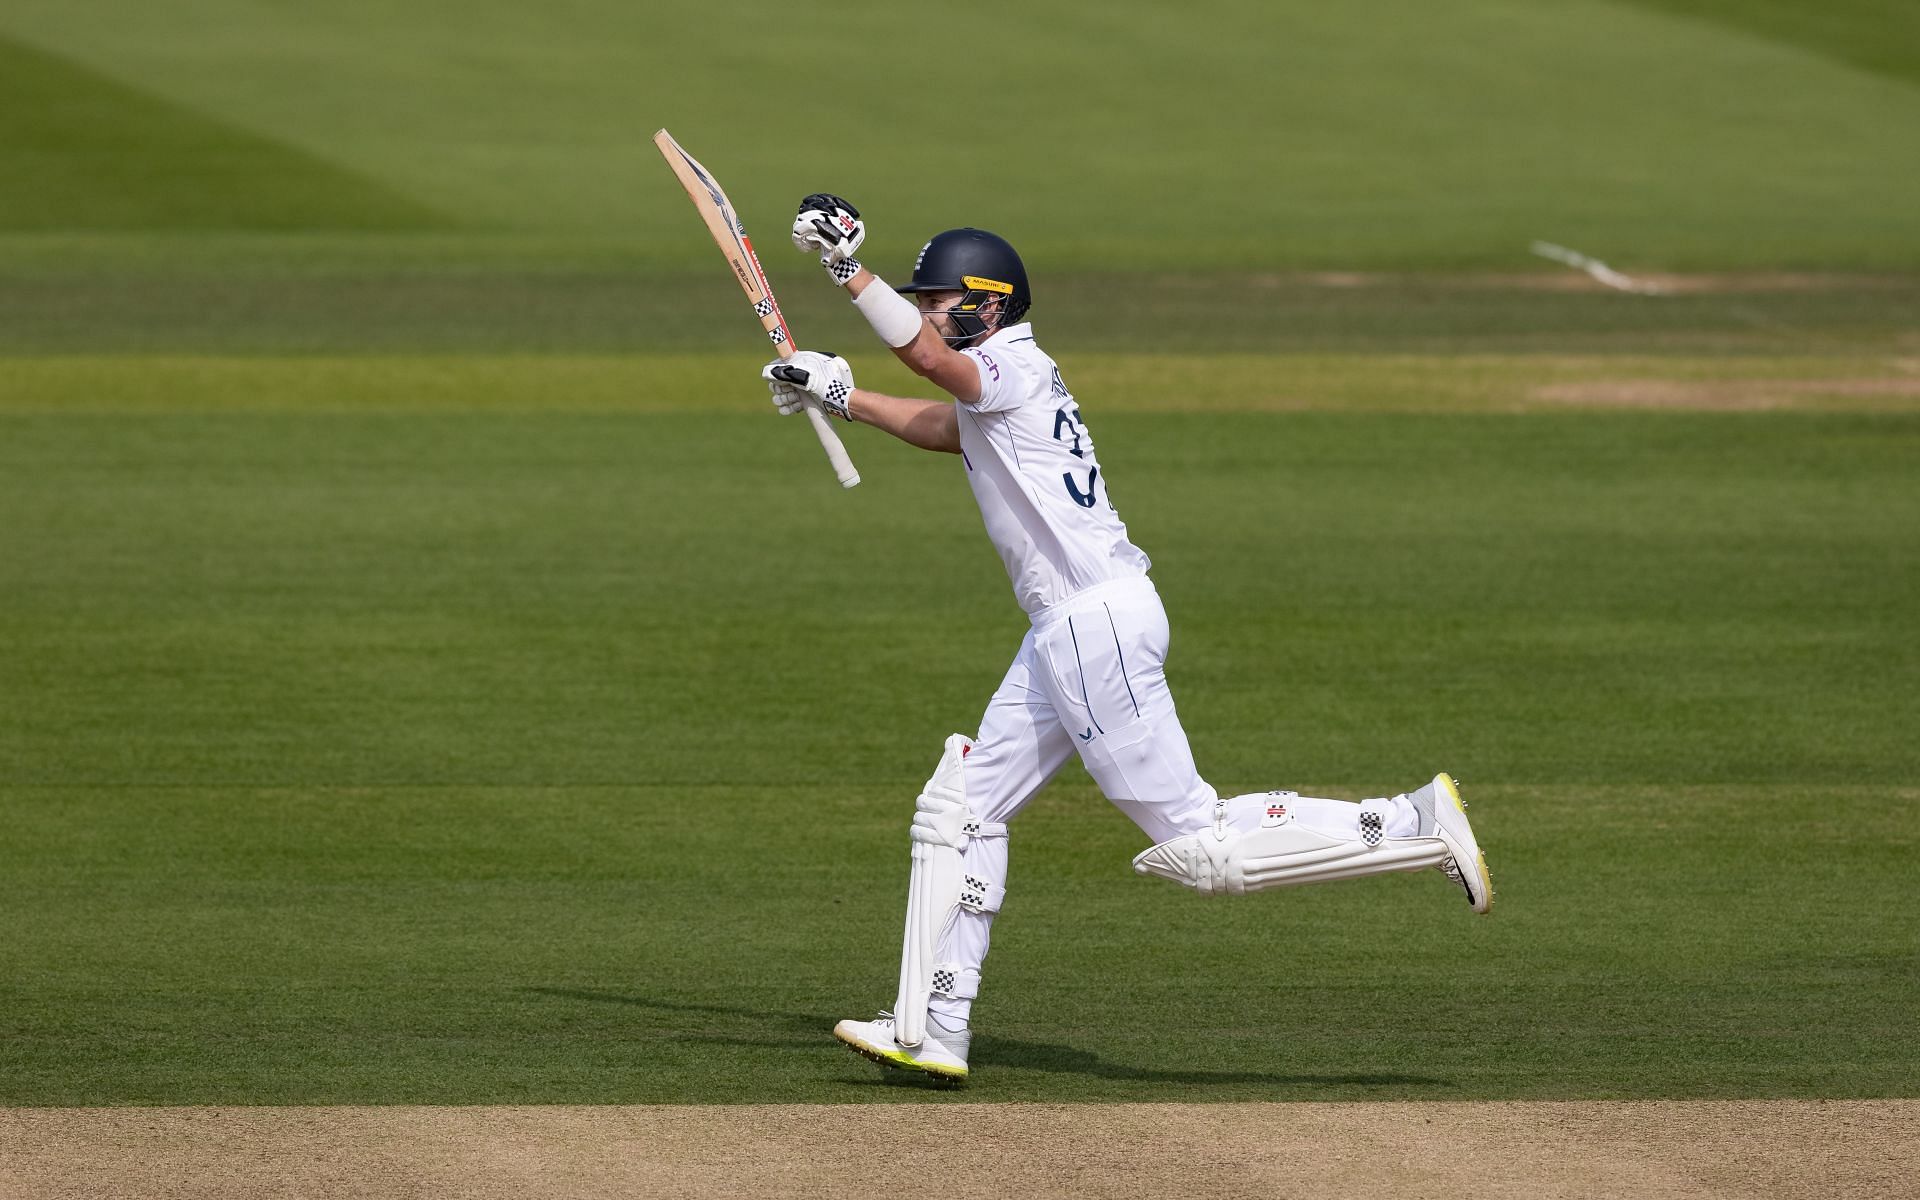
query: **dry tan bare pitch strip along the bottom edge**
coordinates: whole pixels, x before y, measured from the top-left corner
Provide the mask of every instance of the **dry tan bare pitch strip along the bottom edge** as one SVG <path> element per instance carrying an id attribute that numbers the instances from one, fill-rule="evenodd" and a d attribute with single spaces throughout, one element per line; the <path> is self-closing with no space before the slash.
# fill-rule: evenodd
<path id="1" fill-rule="evenodd" d="M 0 1110 L 0 1194 L 1910 1196 L 1920 1100 Z"/>

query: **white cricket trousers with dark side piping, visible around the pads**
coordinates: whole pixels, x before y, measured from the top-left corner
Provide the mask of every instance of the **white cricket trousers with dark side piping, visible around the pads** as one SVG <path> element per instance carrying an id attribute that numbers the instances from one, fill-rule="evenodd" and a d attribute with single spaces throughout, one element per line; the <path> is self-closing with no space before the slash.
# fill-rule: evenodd
<path id="1" fill-rule="evenodd" d="M 1035 618 L 964 758 L 973 816 L 1014 820 L 1077 753 L 1106 799 L 1152 841 L 1213 828 L 1219 793 L 1194 766 L 1165 660 L 1167 612 L 1144 576 L 1098 584 Z M 1229 824 L 1258 826 L 1265 803 L 1265 793 L 1236 797 Z M 1359 804 L 1294 797 L 1288 806 L 1306 828 L 1359 835 Z M 1386 833 L 1411 835 L 1411 806 L 1396 808 Z M 1006 887 L 1006 843 L 968 841 L 964 870 Z M 991 912 L 956 910 L 935 960 L 954 962 L 977 981 L 991 931 Z M 948 1021 L 972 1016 L 966 998 L 935 995 L 929 1008 Z"/>

